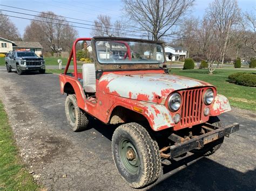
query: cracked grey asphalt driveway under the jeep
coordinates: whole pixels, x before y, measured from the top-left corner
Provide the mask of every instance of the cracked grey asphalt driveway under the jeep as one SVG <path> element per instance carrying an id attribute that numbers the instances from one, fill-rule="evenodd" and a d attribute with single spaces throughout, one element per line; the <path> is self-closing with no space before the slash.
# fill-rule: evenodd
<path id="1" fill-rule="evenodd" d="M 50 190 L 131 190 L 111 154 L 114 126 L 91 119 L 89 130 L 72 132 L 59 93 L 58 75 L 18 76 L 0 70 L 0 99 L 8 112 L 20 154 L 38 182 Z M 144 189 L 255 190 L 255 114 L 237 110 L 220 116 L 240 123 L 210 157 L 188 154 L 164 161 L 160 178 Z"/>

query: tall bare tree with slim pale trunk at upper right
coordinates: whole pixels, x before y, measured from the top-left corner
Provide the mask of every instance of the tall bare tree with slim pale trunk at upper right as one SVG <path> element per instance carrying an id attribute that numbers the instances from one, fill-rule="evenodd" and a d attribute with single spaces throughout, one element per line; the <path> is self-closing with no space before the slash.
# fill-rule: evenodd
<path id="1" fill-rule="evenodd" d="M 213 27 L 217 29 L 216 34 L 219 36 L 221 67 L 223 67 L 231 27 L 238 23 L 239 17 L 237 0 L 214 0 L 206 10 L 206 18 L 213 21 Z"/>

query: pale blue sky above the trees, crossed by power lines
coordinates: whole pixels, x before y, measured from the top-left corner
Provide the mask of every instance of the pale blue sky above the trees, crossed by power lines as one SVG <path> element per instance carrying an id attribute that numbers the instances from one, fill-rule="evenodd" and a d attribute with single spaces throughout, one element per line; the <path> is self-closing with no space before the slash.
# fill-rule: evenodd
<path id="1" fill-rule="evenodd" d="M 194 17 L 203 17 L 205 9 L 208 4 L 212 2 L 212 0 L 196 0 L 193 12 L 191 12 L 191 16 Z M 122 7 L 123 2 L 113 1 L 113 0 L 36 0 L 36 1 L 26 1 L 26 0 L 0 0 L 0 4 L 10 5 L 10 6 L 18 6 L 19 8 L 29 9 L 34 11 L 52 11 L 57 15 L 62 15 L 65 17 L 79 18 L 93 22 L 96 19 L 97 15 L 104 14 L 111 16 L 112 20 L 120 19 L 120 15 L 122 15 Z M 252 11 L 253 8 L 256 8 L 256 0 L 239 0 L 239 7 L 242 11 Z M 1 5 L 0 5 L 1 6 Z M 3 10 L 11 10 L 17 12 L 26 12 L 31 15 L 36 15 L 33 12 L 28 12 L 24 10 L 18 10 L 14 8 L 6 8 L 5 6 L 1 6 Z M 3 11 L 6 15 L 19 16 L 24 17 L 24 15 L 20 15 L 17 13 L 10 13 Z M 25 16 L 26 18 L 33 18 L 31 16 Z M 19 32 L 23 35 L 24 29 L 27 25 L 29 25 L 29 20 L 19 19 L 19 18 L 11 18 L 12 22 L 18 27 Z M 74 22 L 79 22 L 73 20 Z M 85 22 L 83 22 L 85 23 Z M 92 23 L 87 23 L 92 24 Z M 75 24 L 73 24 L 75 25 Z M 80 25 L 84 26 L 84 25 Z M 90 27 L 90 26 L 84 26 Z M 89 29 L 78 29 L 79 37 L 90 37 Z"/>

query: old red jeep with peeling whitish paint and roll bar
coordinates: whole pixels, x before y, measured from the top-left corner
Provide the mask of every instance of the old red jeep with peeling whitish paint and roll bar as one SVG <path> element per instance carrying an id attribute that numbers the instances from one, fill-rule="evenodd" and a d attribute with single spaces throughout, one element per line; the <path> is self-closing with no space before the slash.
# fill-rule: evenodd
<path id="1" fill-rule="evenodd" d="M 94 63 L 78 72 L 81 40 L 91 41 Z M 214 86 L 168 74 L 163 44 L 156 41 L 79 38 L 59 81 L 61 93 L 68 95 L 65 112 L 73 131 L 86 129 L 88 116 L 120 124 L 112 137 L 113 160 L 134 188 L 158 178 L 162 159 L 187 152 L 210 155 L 239 129 L 238 123 L 221 124 L 217 116 L 231 107 Z"/>

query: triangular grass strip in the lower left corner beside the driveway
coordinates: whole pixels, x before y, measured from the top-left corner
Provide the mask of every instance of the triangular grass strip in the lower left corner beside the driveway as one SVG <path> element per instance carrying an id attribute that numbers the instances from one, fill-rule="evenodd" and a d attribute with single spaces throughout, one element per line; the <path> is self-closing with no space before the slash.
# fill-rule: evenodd
<path id="1" fill-rule="evenodd" d="M 15 144 L 8 117 L 0 102 L 0 190 L 39 190 L 26 171 Z"/>

